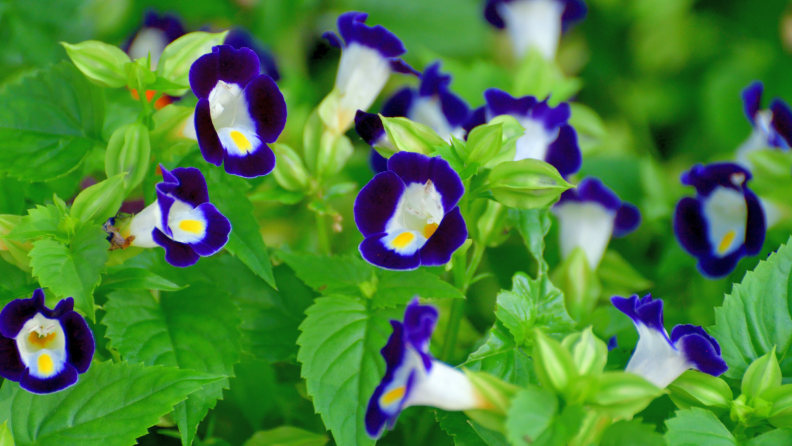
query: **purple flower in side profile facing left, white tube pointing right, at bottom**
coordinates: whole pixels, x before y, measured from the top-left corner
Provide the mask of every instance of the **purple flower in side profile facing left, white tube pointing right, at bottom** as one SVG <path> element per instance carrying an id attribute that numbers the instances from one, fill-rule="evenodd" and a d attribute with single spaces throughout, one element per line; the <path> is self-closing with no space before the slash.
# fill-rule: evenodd
<path id="1" fill-rule="evenodd" d="M 437 324 L 437 310 L 414 299 L 404 322 L 391 321 L 393 334 L 382 356 L 385 377 L 369 400 L 366 432 L 379 438 L 393 429 L 402 410 L 431 406 L 443 410 L 486 409 L 489 403 L 475 390 L 464 372 L 432 357 L 429 340 Z"/>

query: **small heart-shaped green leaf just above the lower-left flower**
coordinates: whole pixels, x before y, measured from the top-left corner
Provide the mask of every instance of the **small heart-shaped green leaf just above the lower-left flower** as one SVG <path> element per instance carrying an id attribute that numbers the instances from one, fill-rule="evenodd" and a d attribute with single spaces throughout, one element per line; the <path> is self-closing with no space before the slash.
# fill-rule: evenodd
<path id="1" fill-rule="evenodd" d="M 73 297 L 74 307 L 91 320 L 93 291 L 101 280 L 110 243 L 100 226 L 82 226 L 68 246 L 55 240 L 33 242 L 30 266 L 42 287 L 60 298 Z"/>

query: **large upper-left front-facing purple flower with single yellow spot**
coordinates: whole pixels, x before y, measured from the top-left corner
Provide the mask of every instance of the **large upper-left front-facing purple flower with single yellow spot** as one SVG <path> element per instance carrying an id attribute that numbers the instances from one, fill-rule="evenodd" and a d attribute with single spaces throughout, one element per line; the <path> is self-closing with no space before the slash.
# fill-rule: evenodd
<path id="1" fill-rule="evenodd" d="M 286 101 L 275 81 L 260 74 L 256 53 L 219 45 L 190 68 L 190 87 L 198 97 L 195 134 L 204 159 L 245 178 L 266 175 L 275 168 L 275 154 L 267 146 L 286 125 Z"/>

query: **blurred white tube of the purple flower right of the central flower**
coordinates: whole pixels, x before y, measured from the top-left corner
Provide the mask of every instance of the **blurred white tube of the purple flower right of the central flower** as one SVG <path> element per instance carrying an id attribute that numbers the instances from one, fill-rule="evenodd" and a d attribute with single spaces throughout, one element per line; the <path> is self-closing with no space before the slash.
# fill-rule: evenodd
<path id="1" fill-rule="evenodd" d="M 592 270 L 597 269 L 613 235 L 614 212 L 598 203 L 570 201 L 553 208 L 560 222 L 561 255 L 582 248 Z"/>

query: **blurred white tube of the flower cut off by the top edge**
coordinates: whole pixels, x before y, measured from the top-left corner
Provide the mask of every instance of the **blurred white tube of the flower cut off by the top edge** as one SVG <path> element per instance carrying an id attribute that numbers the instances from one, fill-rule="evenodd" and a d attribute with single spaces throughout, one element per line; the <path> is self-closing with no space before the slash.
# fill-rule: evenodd
<path id="1" fill-rule="evenodd" d="M 498 13 L 518 58 L 536 48 L 547 60 L 555 60 L 561 39 L 564 3 L 557 0 L 518 0 L 498 4 Z"/>

